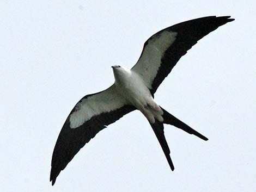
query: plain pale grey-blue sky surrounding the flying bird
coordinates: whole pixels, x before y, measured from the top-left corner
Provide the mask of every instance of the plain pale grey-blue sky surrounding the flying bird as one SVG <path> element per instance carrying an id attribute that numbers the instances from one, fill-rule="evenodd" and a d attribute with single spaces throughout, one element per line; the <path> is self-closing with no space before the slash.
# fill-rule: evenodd
<path id="1" fill-rule="evenodd" d="M 255 1 L 0 1 L 1 191 L 254 191 Z M 171 172 L 148 121 L 109 125 L 49 182 L 62 125 L 81 97 L 132 67 L 149 36 L 231 15 L 194 46 L 155 100 L 209 138 L 165 126 Z"/>

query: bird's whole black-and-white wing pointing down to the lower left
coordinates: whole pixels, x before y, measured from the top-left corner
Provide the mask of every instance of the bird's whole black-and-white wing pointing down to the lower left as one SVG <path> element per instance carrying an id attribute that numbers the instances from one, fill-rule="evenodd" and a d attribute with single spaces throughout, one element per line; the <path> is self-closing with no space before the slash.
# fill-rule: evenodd
<path id="1" fill-rule="evenodd" d="M 66 119 L 54 147 L 50 175 L 52 185 L 80 148 L 107 125 L 133 110 L 135 107 L 118 97 L 114 85 L 83 97 Z"/>

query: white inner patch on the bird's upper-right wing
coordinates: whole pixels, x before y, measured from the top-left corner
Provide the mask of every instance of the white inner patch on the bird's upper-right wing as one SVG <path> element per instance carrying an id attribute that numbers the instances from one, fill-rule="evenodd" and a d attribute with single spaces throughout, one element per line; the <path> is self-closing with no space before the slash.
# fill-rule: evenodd
<path id="1" fill-rule="evenodd" d="M 151 84 L 157 75 L 157 70 L 161 65 L 161 58 L 164 52 L 173 44 L 176 39 L 176 32 L 164 30 L 162 33 L 153 35 L 148 44 L 144 47 L 141 58 L 132 70 L 137 72 L 151 89 Z"/>

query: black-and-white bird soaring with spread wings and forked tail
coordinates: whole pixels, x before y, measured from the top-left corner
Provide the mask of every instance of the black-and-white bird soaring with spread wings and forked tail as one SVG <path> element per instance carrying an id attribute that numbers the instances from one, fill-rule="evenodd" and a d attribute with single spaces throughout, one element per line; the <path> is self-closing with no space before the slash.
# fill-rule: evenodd
<path id="1" fill-rule="evenodd" d="M 163 124 L 208 140 L 160 107 L 154 100 L 154 94 L 188 49 L 205 35 L 231 21 L 234 19 L 230 16 L 208 16 L 175 24 L 160 30 L 145 42 L 141 56 L 132 69 L 112 66 L 114 84 L 106 90 L 84 96 L 66 119 L 52 154 L 52 185 L 60 171 L 90 139 L 133 110 L 141 111 L 149 121 L 172 170 L 174 166 Z"/>

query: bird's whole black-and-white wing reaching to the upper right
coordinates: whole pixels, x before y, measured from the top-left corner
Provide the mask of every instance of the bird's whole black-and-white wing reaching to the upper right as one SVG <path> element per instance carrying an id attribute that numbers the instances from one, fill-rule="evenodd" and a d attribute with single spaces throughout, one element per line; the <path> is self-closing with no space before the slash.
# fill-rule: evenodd
<path id="1" fill-rule="evenodd" d="M 196 18 L 157 32 L 145 42 L 141 57 L 132 70 L 141 76 L 154 95 L 182 55 L 205 35 L 234 20 L 229 17 Z"/>

